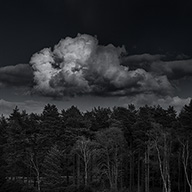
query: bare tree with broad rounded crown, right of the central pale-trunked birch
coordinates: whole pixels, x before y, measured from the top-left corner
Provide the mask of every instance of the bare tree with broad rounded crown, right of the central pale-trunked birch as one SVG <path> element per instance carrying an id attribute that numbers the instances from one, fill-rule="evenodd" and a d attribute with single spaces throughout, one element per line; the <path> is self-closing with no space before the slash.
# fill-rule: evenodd
<path id="1" fill-rule="evenodd" d="M 110 188 L 116 190 L 122 160 L 120 152 L 125 142 L 123 133 L 119 128 L 109 128 L 97 134 L 97 141 L 100 144 L 99 169 L 107 176 Z"/>

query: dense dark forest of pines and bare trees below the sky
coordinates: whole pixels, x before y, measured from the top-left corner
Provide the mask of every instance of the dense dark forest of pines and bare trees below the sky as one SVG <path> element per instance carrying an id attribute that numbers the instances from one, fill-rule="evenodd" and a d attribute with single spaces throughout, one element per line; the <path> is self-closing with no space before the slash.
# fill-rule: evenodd
<path id="1" fill-rule="evenodd" d="M 192 101 L 0 117 L 2 192 L 192 192 Z"/>

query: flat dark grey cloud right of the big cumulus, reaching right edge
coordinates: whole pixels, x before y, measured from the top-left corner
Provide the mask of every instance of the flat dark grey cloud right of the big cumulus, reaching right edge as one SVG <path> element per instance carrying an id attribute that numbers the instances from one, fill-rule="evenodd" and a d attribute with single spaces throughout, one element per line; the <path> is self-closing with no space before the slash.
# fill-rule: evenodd
<path id="1" fill-rule="evenodd" d="M 192 76 L 192 59 L 186 55 L 178 55 L 172 61 L 167 61 L 165 55 L 132 55 L 124 59 L 123 65 L 130 69 L 139 67 L 147 72 L 166 75 L 169 80 Z"/>

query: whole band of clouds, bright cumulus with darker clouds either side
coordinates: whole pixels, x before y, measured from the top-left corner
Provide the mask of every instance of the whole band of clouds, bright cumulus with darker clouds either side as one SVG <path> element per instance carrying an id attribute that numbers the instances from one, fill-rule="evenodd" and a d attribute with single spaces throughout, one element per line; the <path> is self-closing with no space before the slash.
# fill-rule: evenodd
<path id="1" fill-rule="evenodd" d="M 99 45 L 96 37 L 78 34 L 62 39 L 53 49 L 35 53 L 30 64 L 1 67 L 0 88 L 16 87 L 19 94 L 32 88 L 33 94 L 52 98 L 116 96 L 137 106 L 160 104 L 176 109 L 189 101 L 179 97 L 188 97 L 187 91 L 178 94 L 179 86 L 186 89 L 186 79 L 192 76 L 192 59 L 188 56 L 173 60 L 159 54 L 126 55 L 124 47 Z M 3 100 L 0 105 L 4 110 L 3 106 L 13 107 Z"/>

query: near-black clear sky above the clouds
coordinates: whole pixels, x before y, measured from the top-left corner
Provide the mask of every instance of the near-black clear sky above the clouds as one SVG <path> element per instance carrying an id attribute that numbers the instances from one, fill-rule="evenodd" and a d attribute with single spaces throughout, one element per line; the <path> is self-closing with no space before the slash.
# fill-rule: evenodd
<path id="1" fill-rule="evenodd" d="M 179 56 L 189 60 L 192 57 L 191 10 L 190 0 L 1 0 L 0 75 L 3 67 L 28 64 L 34 53 L 45 47 L 53 48 L 62 38 L 74 38 L 78 33 L 96 35 L 100 45 L 125 45 L 128 56 L 158 54 L 166 55 L 165 60 L 169 61 Z M 174 96 L 191 96 L 186 91 L 190 78 L 191 74 L 183 75 L 179 82 L 169 79 L 174 86 L 181 86 Z M 3 76 L 0 83 L 4 83 L 2 79 Z M 17 89 L 2 87 L 1 103 Z M 16 96 L 8 99 L 9 103 L 18 101 Z M 102 98 L 95 100 L 99 104 Z"/>

